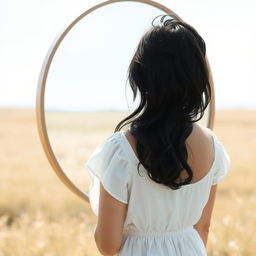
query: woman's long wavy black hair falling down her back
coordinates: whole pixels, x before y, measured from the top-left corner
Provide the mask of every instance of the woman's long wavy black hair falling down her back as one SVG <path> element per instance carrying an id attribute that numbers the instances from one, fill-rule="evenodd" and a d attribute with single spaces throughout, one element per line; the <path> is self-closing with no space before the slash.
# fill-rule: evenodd
<path id="1" fill-rule="evenodd" d="M 130 124 L 139 158 L 148 176 L 179 189 L 193 171 L 187 163 L 185 140 L 211 98 L 206 45 L 189 24 L 168 19 L 141 38 L 128 68 L 127 80 L 137 108 L 118 123 L 115 132 Z M 188 178 L 177 182 L 181 171 Z"/>

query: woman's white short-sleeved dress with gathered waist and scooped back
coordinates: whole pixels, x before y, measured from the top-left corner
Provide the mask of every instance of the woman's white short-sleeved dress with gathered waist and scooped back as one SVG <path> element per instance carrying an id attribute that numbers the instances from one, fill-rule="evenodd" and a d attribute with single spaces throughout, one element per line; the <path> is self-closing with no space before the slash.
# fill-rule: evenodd
<path id="1" fill-rule="evenodd" d="M 210 129 L 209 129 L 210 130 Z M 211 130 L 210 130 L 211 131 Z M 227 174 L 230 159 L 211 131 L 215 160 L 199 181 L 172 190 L 151 180 L 122 131 L 101 143 L 85 163 L 90 174 L 89 199 L 98 216 L 102 182 L 117 200 L 128 204 L 118 256 L 204 256 L 203 240 L 193 225 L 208 201 L 211 186 Z"/>

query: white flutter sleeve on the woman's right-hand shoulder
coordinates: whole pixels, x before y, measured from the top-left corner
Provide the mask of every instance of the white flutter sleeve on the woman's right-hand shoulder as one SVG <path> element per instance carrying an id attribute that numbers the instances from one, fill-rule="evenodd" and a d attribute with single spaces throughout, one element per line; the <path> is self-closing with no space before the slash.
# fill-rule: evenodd
<path id="1" fill-rule="evenodd" d="M 212 185 L 218 184 L 230 170 L 230 157 L 224 145 L 218 137 L 213 134 L 216 147 L 216 169 L 213 174 Z"/>

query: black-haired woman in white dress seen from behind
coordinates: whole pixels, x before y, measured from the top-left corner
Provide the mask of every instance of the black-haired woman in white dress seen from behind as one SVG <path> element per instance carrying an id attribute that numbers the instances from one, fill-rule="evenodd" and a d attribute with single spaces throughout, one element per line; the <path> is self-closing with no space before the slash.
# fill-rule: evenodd
<path id="1" fill-rule="evenodd" d="M 230 159 L 196 123 L 211 98 L 205 55 L 202 37 L 175 19 L 140 40 L 128 73 L 140 104 L 86 163 L 103 255 L 206 255 L 217 183 Z"/>

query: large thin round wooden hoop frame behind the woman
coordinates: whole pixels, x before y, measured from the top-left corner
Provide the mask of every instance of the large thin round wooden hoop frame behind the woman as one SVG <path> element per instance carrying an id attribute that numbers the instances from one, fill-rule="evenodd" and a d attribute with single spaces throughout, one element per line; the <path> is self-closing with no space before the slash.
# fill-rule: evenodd
<path id="1" fill-rule="evenodd" d="M 36 97 L 36 120 L 37 120 L 37 128 L 40 136 L 40 140 L 44 149 L 44 152 L 48 158 L 48 161 L 50 162 L 53 170 L 59 177 L 59 179 L 77 196 L 79 196 L 81 199 L 85 200 L 86 202 L 89 202 L 89 197 L 87 193 L 82 192 L 80 189 L 78 189 L 72 182 L 71 180 L 67 177 L 65 172 L 62 170 L 61 166 L 59 165 L 47 133 L 46 129 L 46 122 L 45 122 L 45 111 L 44 111 L 44 95 L 45 95 L 45 87 L 46 87 L 46 81 L 47 81 L 47 76 L 50 70 L 50 66 L 53 60 L 53 57 L 60 46 L 61 42 L 65 38 L 65 36 L 68 34 L 68 32 L 81 20 L 83 19 L 86 15 L 89 13 L 93 12 L 94 10 L 99 9 L 100 7 L 103 7 L 108 4 L 112 3 L 117 3 L 117 2 L 139 2 L 139 3 L 144 3 L 147 5 L 151 5 L 154 7 L 157 7 L 158 9 L 166 12 L 166 14 L 170 14 L 172 17 L 175 17 L 176 19 L 183 21 L 176 13 L 174 13 L 172 10 L 169 8 L 154 2 L 150 0 L 109 0 L 105 1 L 103 3 L 97 4 L 94 7 L 88 9 L 87 11 L 83 12 L 80 16 L 78 16 L 74 21 L 70 23 L 70 25 L 67 26 L 66 29 L 62 33 L 60 33 L 56 39 L 53 41 L 52 45 L 50 46 L 44 62 L 41 67 L 41 72 L 39 75 L 39 80 L 38 80 L 38 88 L 37 88 L 37 97 Z M 210 85 L 211 85 L 211 92 L 212 92 L 212 99 L 210 103 L 210 110 L 209 110 L 209 116 L 208 116 L 208 121 L 207 121 L 207 126 L 209 128 L 213 128 L 213 122 L 214 122 L 214 115 L 215 115 L 215 97 L 214 97 L 214 84 L 213 84 L 213 78 L 212 78 L 212 72 L 209 66 L 208 58 L 206 56 L 206 61 L 208 64 L 209 68 L 209 73 L 210 73 Z"/>

